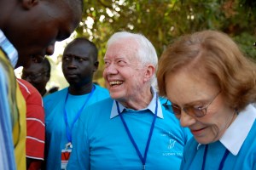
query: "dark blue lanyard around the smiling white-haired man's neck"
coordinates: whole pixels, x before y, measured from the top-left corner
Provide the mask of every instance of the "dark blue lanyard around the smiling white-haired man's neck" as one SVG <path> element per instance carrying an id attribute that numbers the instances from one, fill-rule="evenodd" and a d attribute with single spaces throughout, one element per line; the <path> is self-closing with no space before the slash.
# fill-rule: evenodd
<path id="1" fill-rule="evenodd" d="M 145 165 L 146 165 L 146 160 L 147 160 L 147 154 L 148 154 L 148 147 L 149 147 L 149 144 L 150 144 L 150 140 L 151 140 L 151 137 L 152 137 L 152 133 L 153 133 L 153 130 L 154 130 L 154 123 L 155 123 L 155 120 L 156 120 L 156 116 L 157 116 L 157 109 L 158 109 L 158 94 L 156 94 L 156 102 L 155 102 L 155 113 L 154 113 L 154 119 L 153 119 L 153 122 L 151 124 L 151 127 L 150 127 L 150 131 L 149 131 L 149 134 L 148 134 L 148 141 L 147 141 L 147 145 L 146 145 L 146 148 L 145 148 L 145 152 L 144 152 L 144 157 L 142 156 L 140 150 L 138 149 L 137 147 L 137 144 L 136 142 L 134 141 L 133 137 L 131 136 L 131 132 L 129 130 L 129 128 L 127 127 L 127 124 L 124 120 L 124 117 L 122 116 L 120 110 L 119 110 L 119 104 L 117 101 L 115 101 L 116 105 L 117 105 L 117 110 L 118 110 L 118 113 L 119 113 L 119 116 L 125 126 L 125 131 L 126 133 L 128 133 L 128 136 L 131 140 L 131 143 L 133 144 L 134 148 L 136 149 L 137 151 L 137 155 L 140 157 L 140 160 L 142 161 L 143 163 L 143 169 L 145 169 Z"/>

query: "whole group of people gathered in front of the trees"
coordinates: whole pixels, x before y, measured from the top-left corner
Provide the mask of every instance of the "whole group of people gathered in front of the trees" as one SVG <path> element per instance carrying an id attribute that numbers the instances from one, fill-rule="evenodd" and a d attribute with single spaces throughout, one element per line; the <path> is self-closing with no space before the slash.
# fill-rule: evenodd
<path id="1" fill-rule="evenodd" d="M 62 54 L 69 86 L 50 93 L 45 55 L 82 11 L 0 2 L 0 169 L 256 169 L 256 63 L 224 32 L 184 35 L 160 57 L 142 34 L 115 32 L 106 88 L 93 82 L 96 44 L 77 37 Z"/>

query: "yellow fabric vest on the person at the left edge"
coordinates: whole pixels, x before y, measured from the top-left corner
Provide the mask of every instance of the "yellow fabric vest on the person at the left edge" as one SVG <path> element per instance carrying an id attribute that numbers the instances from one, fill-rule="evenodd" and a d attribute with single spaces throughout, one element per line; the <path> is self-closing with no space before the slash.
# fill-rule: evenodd
<path id="1" fill-rule="evenodd" d="M 8 78 L 9 111 L 13 129 L 13 141 L 15 148 L 15 162 L 17 169 L 26 169 L 26 102 L 23 98 L 18 82 L 16 81 L 14 69 L 0 48 L 0 62 Z"/>

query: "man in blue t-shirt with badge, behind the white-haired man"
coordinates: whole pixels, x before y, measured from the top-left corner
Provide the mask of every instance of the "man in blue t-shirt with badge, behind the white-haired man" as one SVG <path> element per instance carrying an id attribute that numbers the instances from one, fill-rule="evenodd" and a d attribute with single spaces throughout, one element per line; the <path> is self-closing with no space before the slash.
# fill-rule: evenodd
<path id="1" fill-rule="evenodd" d="M 62 71 L 69 83 L 44 97 L 47 169 L 65 169 L 73 149 L 73 127 L 87 105 L 109 97 L 108 90 L 93 83 L 98 68 L 97 48 L 80 37 L 70 42 L 62 56 Z"/>

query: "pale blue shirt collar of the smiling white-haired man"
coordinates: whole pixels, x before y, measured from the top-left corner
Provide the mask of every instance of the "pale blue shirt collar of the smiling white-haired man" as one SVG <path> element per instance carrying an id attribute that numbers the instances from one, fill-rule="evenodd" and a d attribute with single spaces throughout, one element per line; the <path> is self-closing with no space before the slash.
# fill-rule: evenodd
<path id="1" fill-rule="evenodd" d="M 154 94 L 154 96 L 153 96 L 153 99 L 150 101 L 148 107 L 146 107 L 142 110 L 139 110 L 139 111 L 149 110 L 149 111 L 151 111 L 152 114 L 154 114 L 154 110 L 155 110 L 155 106 L 156 106 L 155 105 L 156 92 L 155 92 L 154 88 L 151 88 L 151 92 L 152 92 L 152 94 Z M 160 99 L 158 99 L 157 102 L 158 102 L 157 116 L 160 117 L 160 118 L 164 118 L 163 113 L 162 113 L 161 104 L 160 104 Z M 120 112 L 123 112 L 124 110 L 131 110 L 131 109 L 125 108 L 124 105 L 119 103 L 119 110 L 120 110 Z M 119 115 L 119 113 L 117 111 L 117 105 L 116 105 L 115 100 L 114 100 L 113 105 L 112 105 L 110 118 L 113 118 L 114 116 L 118 116 L 118 115 Z"/>

